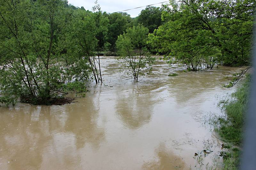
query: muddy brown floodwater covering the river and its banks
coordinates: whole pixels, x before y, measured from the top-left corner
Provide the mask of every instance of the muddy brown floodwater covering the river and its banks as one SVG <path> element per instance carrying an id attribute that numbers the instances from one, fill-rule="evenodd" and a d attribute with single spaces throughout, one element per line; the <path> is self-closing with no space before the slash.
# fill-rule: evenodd
<path id="1" fill-rule="evenodd" d="M 157 61 L 135 83 L 115 57 L 101 62 L 104 84 L 76 103 L 0 107 L 1 170 L 220 169 L 207 120 L 223 114 L 218 103 L 234 89 L 222 85 L 240 68 L 184 73 Z"/>

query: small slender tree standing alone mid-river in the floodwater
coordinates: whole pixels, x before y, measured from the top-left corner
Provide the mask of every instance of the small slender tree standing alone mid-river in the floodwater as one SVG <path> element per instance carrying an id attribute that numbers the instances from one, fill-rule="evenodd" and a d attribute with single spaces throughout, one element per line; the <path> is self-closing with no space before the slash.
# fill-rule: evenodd
<path id="1" fill-rule="evenodd" d="M 147 40 L 148 28 L 138 25 L 128 28 L 126 33 L 119 35 L 116 41 L 118 53 L 136 81 L 139 74 L 147 71 L 155 61 L 146 48 Z"/>

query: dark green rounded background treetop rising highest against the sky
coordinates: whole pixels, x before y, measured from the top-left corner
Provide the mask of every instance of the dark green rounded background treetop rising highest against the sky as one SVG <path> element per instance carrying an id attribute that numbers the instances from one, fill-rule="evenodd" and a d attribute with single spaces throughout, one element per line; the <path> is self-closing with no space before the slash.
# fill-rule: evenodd
<path id="1" fill-rule="evenodd" d="M 162 11 L 159 7 L 148 6 L 140 12 L 137 22 L 147 27 L 150 33 L 153 33 L 155 29 L 163 24 L 161 14 Z"/>

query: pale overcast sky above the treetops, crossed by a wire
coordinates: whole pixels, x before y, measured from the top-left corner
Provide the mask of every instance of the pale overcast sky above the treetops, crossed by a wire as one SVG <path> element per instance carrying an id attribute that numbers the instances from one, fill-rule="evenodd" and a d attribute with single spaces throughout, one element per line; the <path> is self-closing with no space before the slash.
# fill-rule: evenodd
<path id="1" fill-rule="evenodd" d="M 128 10 L 128 9 L 136 8 L 140 6 L 156 4 L 164 1 L 167 1 L 167 0 L 98 0 L 98 4 L 100 4 L 101 11 L 106 11 L 111 13 L 111 12 Z M 95 0 L 68 0 L 69 4 L 72 4 L 77 7 L 83 6 L 86 10 L 90 10 L 90 11 L 92 11 L 92 7 L 95 5 L 94 2 Z M 161 4 L 157 4 L 154 6 L 161 7 Z M 137 17 L 140 14 L 140 11 L 143 9 L 145 9 L 145 7 L 126 11 L 126 12 L 130 14 L 131 17 Z"/>

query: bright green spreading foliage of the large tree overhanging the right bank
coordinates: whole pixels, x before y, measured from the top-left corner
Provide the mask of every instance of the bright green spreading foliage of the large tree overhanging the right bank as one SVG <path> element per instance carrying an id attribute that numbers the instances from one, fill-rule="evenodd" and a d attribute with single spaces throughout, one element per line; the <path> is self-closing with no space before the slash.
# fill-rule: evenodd
<path id="1" fill-rule="evenodd" d="M 216 62 L 248 65 L 252 44 L 253 1 L 184 0 L 165 6 L 150 43 L 170 64 L 193 71 L 212 69 Z"/>

